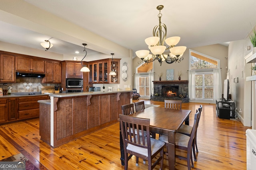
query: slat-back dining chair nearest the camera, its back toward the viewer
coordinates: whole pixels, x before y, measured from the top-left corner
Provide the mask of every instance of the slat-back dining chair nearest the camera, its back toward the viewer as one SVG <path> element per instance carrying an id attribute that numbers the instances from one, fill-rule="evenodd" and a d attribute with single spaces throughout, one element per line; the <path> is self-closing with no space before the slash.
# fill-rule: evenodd
<path id="1" fill-rule="evenodd" d="M 161 170 L 164 163 L 164 145 L 165 143 L 149 136 L 150 119 L 131 117 L 128 115 L 119 115 L 122 140 L 124 143 L 124 169 L 128 169 L 128 160 L 132 155 L 136 156 L 136 165 L 138 166 L 138 157 L 148 160 L 148 169 L 152 170 L 160 163 Z M 137 134 L 130 133 L 131 128 L 137 129 Z M 142 132 L 139 133 L 139 130 Z M 144 134 L 146 133 L 146 135 Z M 159 158 L 152 165 L 152 159 L 160 153 Z M 130 154 L 128 156 L 128 154 Z"/>

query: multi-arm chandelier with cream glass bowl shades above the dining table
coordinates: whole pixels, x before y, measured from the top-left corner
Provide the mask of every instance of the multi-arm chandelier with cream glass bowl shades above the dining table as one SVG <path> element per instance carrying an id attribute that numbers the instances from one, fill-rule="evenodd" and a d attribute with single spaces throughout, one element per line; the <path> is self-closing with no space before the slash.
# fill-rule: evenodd
<path id="1" fill-rule="evenodd" d="M 151 63 L 157 60 L 160 65 L 162 65 L 162 61 L 166 61 L 166 63 L 180 63 L 183 60 L 183 53 L 186 51 L 185 46 L 174 47 L 180 41 L 180 37 L 169 37 L 166 39 L 167 27 L 164 23 L 161 22 L 161 10 L 164 8 L 163 5 L 159 5 L 156 7 L 159 10 L 158 20 L 159 25 L 156 25 L 153 29 L 153 37 L 148 37 L 145 39 L 146 44 L 148 45 L 148 50 L 139 50 L 136 51 L 137 57 L 141 59 L 138 63 L 145 62 L 146 64 Z M 164 30 L 162 30 L 162 28 Z M 164 42 L 168 45 L 164 45 Z M 164 55 L 164 51 L 170 49 L 170 53 L 168 55 Z M 152 54 L 150 54 L 150 52 Z M 144 64 L 142 64 L 144 66 Z"/>

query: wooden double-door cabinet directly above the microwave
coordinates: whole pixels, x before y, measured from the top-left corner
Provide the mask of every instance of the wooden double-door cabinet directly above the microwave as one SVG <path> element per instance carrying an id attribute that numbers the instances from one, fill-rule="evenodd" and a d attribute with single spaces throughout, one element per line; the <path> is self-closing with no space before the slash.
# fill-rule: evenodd
<path id="1" fill-rule="evenodd" d="M 80 61 L 62 61 L 62 74 L 65 78 L 83 78 L 81 68 Z"/>

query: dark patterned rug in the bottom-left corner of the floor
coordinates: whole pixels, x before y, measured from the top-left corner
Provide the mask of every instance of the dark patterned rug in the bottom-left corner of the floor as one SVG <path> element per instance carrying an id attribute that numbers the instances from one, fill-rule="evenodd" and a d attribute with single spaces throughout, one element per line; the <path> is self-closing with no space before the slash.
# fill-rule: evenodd
<path id="1" fill-rule="evenodd" d="M 1 162 L 26 162 L 26 170 L 39 170 L 22 153 L 0 160 Z"/>

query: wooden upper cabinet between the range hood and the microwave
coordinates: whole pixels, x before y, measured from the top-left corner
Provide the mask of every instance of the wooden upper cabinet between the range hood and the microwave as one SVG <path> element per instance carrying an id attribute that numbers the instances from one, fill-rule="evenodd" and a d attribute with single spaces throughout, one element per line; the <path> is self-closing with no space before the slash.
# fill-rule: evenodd
<path id="1" fill-rule="evenodd" d="M 43 83 L 61 83 L 61 62 L 45 61 L 45 77 Z"/>

